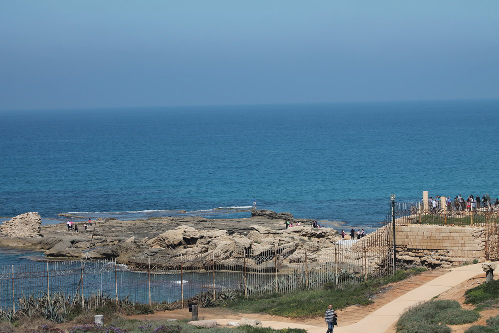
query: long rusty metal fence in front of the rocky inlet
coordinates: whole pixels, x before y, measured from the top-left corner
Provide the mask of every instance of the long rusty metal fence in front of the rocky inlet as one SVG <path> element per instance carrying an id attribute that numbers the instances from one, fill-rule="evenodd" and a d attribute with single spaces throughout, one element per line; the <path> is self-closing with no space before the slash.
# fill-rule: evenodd
<path id="1" fill-rule="evenodd" d="M 250 297 L 327 283 L 357 284 L 390 274 L 390 235 L 388 225 L 356 242 L 323 240 L 263 251 L 184 254 L 168 260 L 151 256 L 126 265 L 88 260 L 0 266 L 0 306 L 15 310 L 23 296 L 63 293 L 85 298 L 82 304 L 89 308 L 102 306 L 102 296 L 116 303 L 123 299 L 150 305 L 178 301 L 183 307 L 201 293 L 217 299 L 224 290 Z"/>

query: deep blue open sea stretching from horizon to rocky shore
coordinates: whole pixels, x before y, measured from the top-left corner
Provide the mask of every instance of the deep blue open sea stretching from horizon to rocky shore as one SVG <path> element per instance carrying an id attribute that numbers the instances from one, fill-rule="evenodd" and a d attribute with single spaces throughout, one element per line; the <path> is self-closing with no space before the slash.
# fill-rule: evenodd
<path id="1" fill-rule="evenodd" d="M 499 100 L 0 111 L 0 216 L 249 217 L 255 197 L 373 230 L 390 193 L 497 197 L 498 124 Z"/>

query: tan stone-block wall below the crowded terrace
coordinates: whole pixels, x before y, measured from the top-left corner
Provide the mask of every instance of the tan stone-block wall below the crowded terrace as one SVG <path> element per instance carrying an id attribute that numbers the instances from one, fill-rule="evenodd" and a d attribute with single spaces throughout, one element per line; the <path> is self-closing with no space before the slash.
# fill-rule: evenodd
<path id="1" fill-rule="evenodd" d="M 485 261 L 485 228 L 398 225 L 397 261 L 409 265 L 450 267 Z"/>

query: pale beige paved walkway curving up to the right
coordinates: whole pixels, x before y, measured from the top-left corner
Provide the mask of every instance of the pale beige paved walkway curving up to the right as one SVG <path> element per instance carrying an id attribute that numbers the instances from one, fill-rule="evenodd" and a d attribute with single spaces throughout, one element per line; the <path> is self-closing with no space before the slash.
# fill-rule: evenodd
<path id="1" fill-rule="evenodd" d="M 443 292 L 467 281 L 477 275 L 484 274 L 482 264 L 474 264 L 468 266 L 456 267 L 448 270 L 448 273 L 416 288 L 410 292 L 400 296 L 399 298 L 384 305 L 380 309 L 374 311 L 359 322 L 347 326 L 337 326 L 334 328 L 334 333 L 384 333 L 392 326 L 400 317 L 400 315 L 410 306 L 419 302 L 426 302 L 442 294 Z M 341 325 L 341 312 L 338 312 L 338 322 Z M 214 319 L 220 325 L 227 325 L 234 322 L 234 319 Z M 309 333 L 324 333 L 327 326 L 311 326 L 286 322 L 266 322 L 262 321 L 263 326 L 273 329 L 304 329 Z"/>

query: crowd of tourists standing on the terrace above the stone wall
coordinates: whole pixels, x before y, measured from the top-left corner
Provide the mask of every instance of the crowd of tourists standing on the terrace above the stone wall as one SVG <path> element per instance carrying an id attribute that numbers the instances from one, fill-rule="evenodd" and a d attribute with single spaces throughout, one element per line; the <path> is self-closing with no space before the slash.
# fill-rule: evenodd
<path id="1" fill-rule="evenodd" d="M 480 195 L 476 197 L 474 195 L 468 196 L 467 199 L 463 198 L 461 194 L 454 197 L 454 200 L 451 197 L 443 197 L 445 199 L 445 203 L 448 210 L 453 210 L 455 212 L 471 212 L 476 211 L 477 209 L 482 209 L 485 211 L 498 211 L 499 210 L 499 198 L 496 201 L 491 199 L 489 193 L 480 198 Z M 442 197 L 436 195 L 434 197 L 430 197 L 428 199 L 428 207 L 435 214 L 437 211 L 442 209 Z"/>

